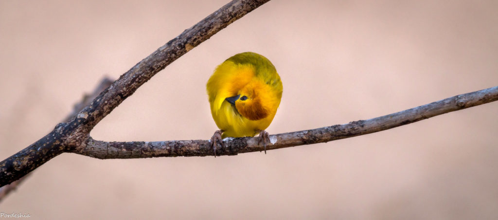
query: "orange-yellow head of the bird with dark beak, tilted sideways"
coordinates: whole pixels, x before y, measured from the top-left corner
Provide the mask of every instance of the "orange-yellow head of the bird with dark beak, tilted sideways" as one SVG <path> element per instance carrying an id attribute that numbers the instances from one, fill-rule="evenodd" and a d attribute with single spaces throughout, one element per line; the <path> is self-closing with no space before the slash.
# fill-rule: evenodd
<path id="1" fill-rule="evenodd" d="M 264 83 L 249 83 L 237 95 L 226 100 L 235 106 L 237 111 L 249 120 L 261 120 L 270 114 L 272 99 Z"/>

